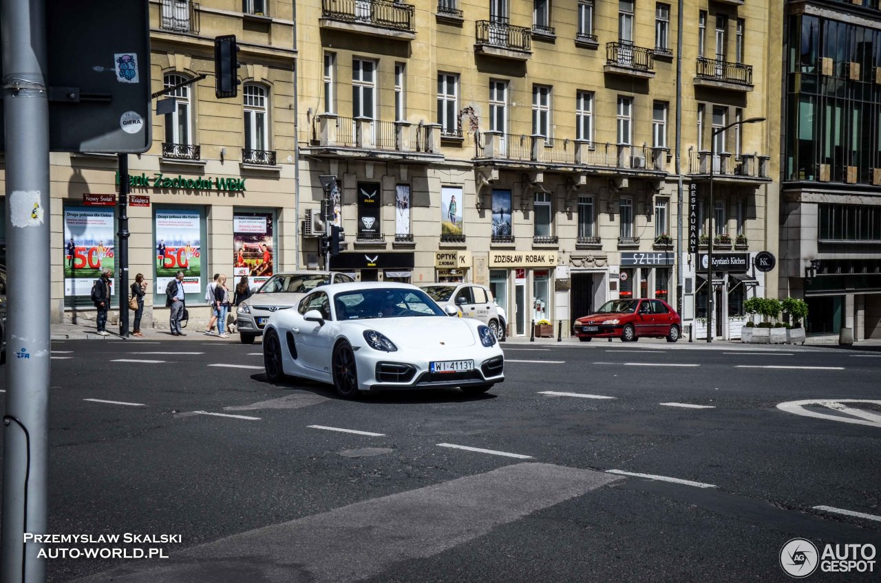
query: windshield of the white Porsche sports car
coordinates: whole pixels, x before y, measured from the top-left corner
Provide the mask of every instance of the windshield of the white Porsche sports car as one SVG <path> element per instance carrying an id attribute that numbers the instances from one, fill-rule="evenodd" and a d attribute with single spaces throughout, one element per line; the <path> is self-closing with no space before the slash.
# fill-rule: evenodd
<path id="1" fill-rule="evenodd" d="M 394 288 L 337 293 L 334 307 L 337 320 L 447 316 L 425 293 Z"/>

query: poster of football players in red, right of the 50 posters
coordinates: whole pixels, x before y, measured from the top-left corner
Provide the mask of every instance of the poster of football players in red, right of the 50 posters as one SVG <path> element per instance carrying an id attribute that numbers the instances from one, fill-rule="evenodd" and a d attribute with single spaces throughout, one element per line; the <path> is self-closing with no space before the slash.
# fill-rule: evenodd
<path id="1" fill-rule="evenodd" d="M 272 213 L 233 215 L 233 278 L 238 285 L 248 276 L 251 287 L 263 285 L 272 275 Z M 227 283 L 231 290 L 233 286 Z"/>

